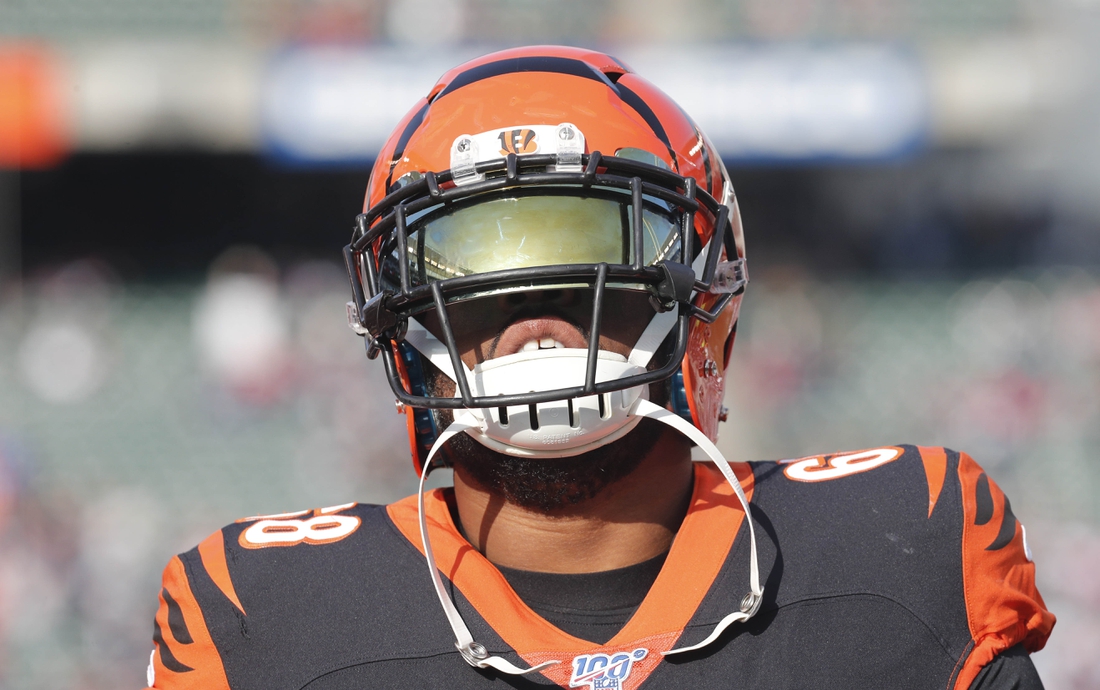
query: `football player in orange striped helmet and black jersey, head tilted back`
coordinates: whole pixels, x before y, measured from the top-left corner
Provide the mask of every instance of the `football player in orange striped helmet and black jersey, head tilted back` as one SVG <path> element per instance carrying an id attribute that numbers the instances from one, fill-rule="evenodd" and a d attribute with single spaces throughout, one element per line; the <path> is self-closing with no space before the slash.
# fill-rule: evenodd
<path id="1" fill-rule="evenodd" d="M 715 448 L 745 258 L 717 152 L 617 59 L 443 75 L 344 250 L 421 491 L 172 559 L 150 686 L 1041 687 L 1054 616 L 969 457 Z"/>

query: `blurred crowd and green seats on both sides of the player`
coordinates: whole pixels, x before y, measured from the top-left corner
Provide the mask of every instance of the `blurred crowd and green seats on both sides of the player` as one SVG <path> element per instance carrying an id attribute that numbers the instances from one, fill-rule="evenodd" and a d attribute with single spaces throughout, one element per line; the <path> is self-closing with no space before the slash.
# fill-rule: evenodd
<path id="1" fill-rule="evenodd" d="M 81 261 L 0 304 L 0 688 L 141 687 L 173 554 L 244 514 L 415 489 L 345 292 L 336 264 L 234 248 L 202 284 Z M 729 457 L 970 452 L 1012 497 L 1059 616 L 1035 657 L 1047 687 L 1100 686 L 1096 275 L 766 272 L 738 340 Z"/>

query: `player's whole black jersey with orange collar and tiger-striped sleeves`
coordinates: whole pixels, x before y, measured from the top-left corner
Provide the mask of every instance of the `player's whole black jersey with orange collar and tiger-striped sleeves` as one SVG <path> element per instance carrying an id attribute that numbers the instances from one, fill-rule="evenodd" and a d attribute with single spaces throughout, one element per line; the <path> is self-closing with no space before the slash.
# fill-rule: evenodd
<path id="1" fill-rule="evenodd" d="M 474 669 L 432 596 L 416 499 L 245 518 L 165 569 L 150 683 L 162 689 L 563 687 L 969 688 L 1054 625 L 1008 499 L 966 454 L 899 446 L 734 466 L 760 528 L 765 602 L 704 639 L 748 591 L 744 513 L 695 468 L 688 515 L 635 614 L 603 645 L 536 614 L 426 497 L 437 566 L 474 638 L 539 673 Z M 762 538 L 761 538 L 762 537 Z"/>

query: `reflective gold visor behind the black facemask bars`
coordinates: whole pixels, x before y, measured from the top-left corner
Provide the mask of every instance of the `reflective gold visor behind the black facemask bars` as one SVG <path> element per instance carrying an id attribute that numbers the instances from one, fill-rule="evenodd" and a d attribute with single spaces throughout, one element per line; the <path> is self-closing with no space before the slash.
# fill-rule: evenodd
<path id="1" fill-rule="evenodd" d="M 625 201 L 508 196 L 410 219 L 410 282 L 425 285 L 534 266 L 631 264 L 634 212 L 629 199 Z M 642 256 L 647 265 L 680 258 L 679 223 L 658 202 L 646 204 L 642 209 Z M 397 259 L 396 254 L 393 259 Z"/>

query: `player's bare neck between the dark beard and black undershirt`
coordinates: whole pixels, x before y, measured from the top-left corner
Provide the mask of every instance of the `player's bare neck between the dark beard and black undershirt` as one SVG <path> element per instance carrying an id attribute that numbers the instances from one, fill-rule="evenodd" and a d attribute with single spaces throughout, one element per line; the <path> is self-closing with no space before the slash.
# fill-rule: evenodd
<path id="1" fill-rule="evenodd" d="M 540 572 L 597 572 L 666 552 L 693 486 L 691 450 L 664 434 L 629 475 L 584 503 L 546 514 L 508 503 L 454 473 L 458 517 L 494 563 Z"/>

